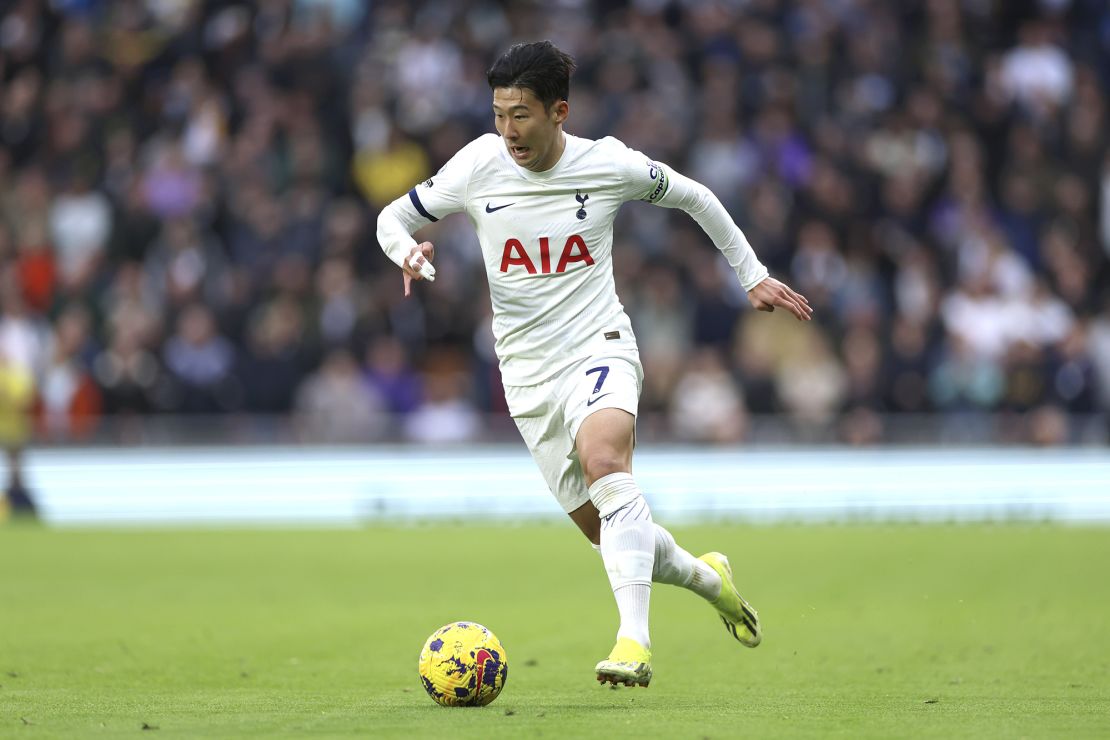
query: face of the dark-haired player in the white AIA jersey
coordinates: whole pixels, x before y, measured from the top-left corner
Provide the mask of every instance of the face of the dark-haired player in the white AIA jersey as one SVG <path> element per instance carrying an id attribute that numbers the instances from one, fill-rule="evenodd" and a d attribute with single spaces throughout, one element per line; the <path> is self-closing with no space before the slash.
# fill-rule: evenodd
<path id="1" fill-rule="evenodd" d="M 496 88 L 493 91 L 493 118 L 497 133 L 513 161 L 533 172 L 552 169 L 562 156 L 563 121 L 568 112 L 565 100 L 544 109 L 535 93 L 525 88 Z"/>

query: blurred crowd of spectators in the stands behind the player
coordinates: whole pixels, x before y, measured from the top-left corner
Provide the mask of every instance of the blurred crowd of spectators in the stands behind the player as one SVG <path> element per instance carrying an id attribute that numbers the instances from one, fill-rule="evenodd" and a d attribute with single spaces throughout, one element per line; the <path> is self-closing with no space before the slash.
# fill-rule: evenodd
<path id="1" fill-rule="evenodd" d="M 690 219 L 625 206 L 646 430 L 1106 438 L 1104 0 L 0 8 L 6 439 L 162 414 L 480 437 L 505 406 L 472 227 L 423 232 L 438 280 L 406 301 L 374 222 L 493 130 L 485 70 L 545 38 L 578 63 L 571 133 L 708 185 L 816 307 L 755 314 Z"/>

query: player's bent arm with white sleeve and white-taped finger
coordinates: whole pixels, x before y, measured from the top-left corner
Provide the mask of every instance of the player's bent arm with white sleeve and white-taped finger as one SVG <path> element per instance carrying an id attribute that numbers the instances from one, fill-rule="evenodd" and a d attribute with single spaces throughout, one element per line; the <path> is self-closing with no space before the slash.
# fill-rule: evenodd
<path id="1" fill-rule="evenodd" d="M 432 242 L 417 244 L 412 235 L 465 207 L 471 149 L 464 148 L 434 176 L 390 203 L 377 216 L 377 243 L 404 273 L 406 296 L 413 281 L 435 280 L 435 246 Z"/>

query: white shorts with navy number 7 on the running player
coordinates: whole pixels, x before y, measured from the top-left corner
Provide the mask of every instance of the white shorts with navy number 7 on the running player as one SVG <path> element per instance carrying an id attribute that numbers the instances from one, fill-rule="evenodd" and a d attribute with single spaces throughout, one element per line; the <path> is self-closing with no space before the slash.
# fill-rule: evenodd
<path id="1" fill-rule="evenodd" d="M 547 487 L 569 514 L 589 500 L 574 440 L 587 416 L 639 408 L 644 368 L 636 356 L 596 356 L 572 365 L 539 385 L 506 385 L 505 399 L 516 428 Z"/>

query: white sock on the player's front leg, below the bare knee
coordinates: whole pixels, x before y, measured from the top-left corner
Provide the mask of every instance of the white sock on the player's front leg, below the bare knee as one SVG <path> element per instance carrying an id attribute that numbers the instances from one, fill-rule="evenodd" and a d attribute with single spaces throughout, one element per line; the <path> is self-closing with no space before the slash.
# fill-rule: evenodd
<path id="1" fill-rule="evenodd" d="M 655 562 L 655 525 L 652 510 L 627 473 L 613 473 L 589 487 L 589 498 L 601 501 L 602 561 L 620 614 L 617 639 L 627 637 L 652 646 L 648 609 Z M 613 506 L 606 506 L 615 503 Z"/>

